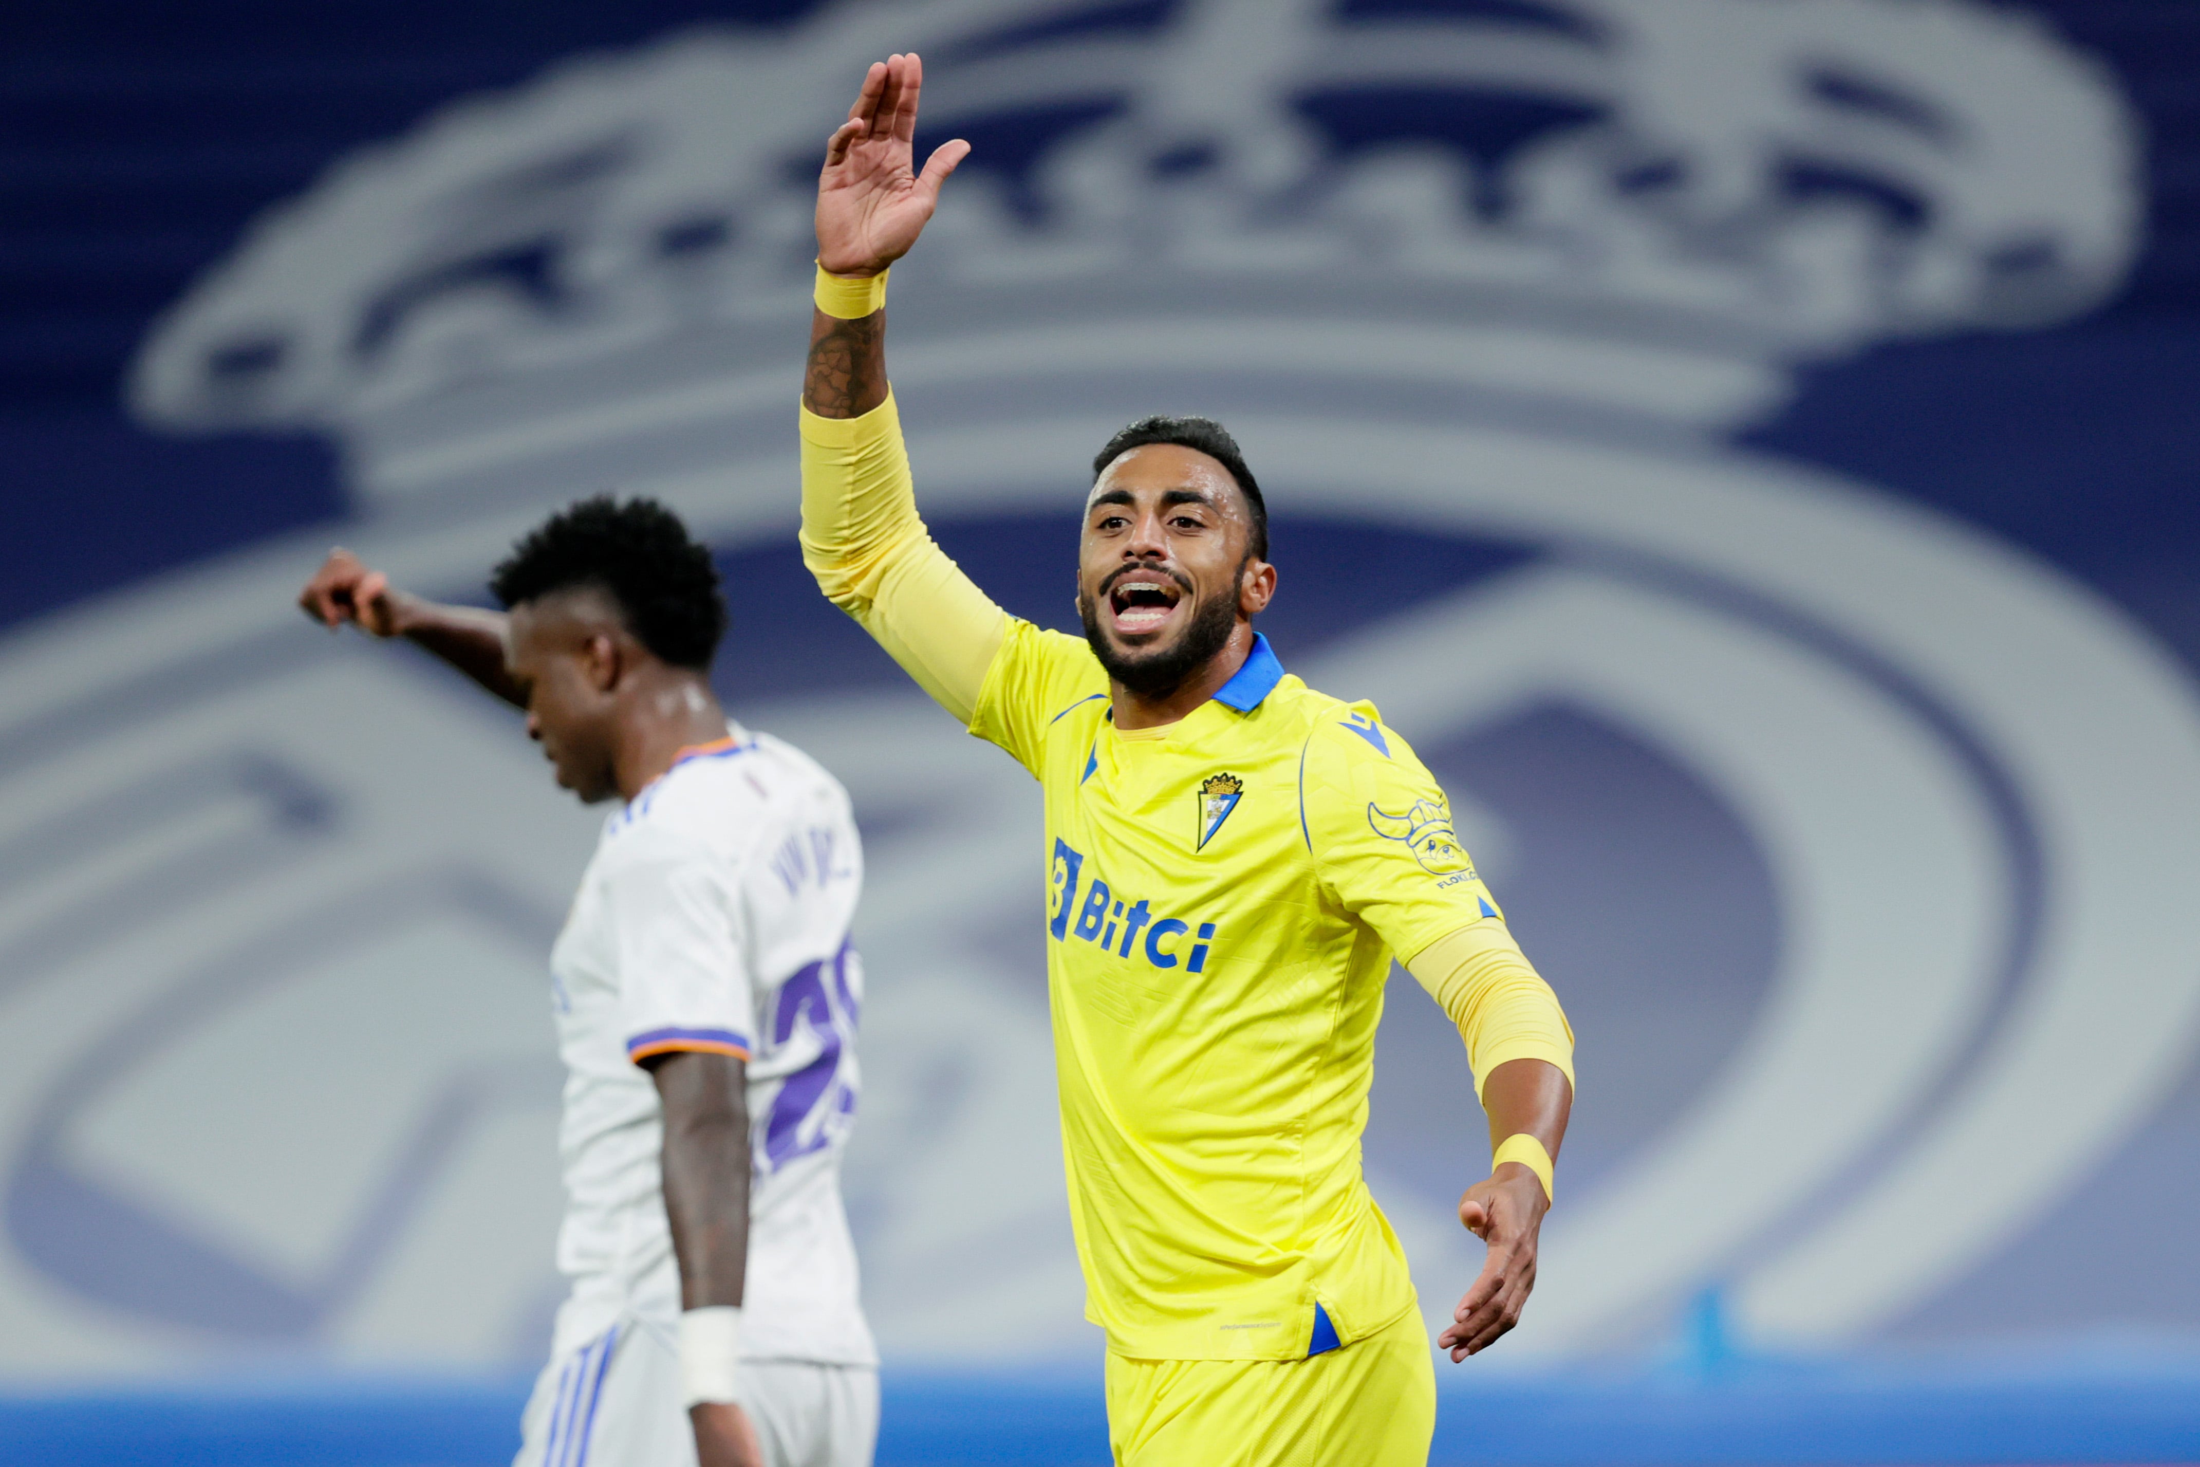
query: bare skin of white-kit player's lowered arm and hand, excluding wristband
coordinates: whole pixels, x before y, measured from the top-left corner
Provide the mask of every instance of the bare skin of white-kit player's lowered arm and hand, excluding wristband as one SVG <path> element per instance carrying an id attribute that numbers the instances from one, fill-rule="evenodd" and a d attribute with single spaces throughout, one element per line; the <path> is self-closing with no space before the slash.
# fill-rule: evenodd
<path id="1" fill-rule="evenodd" d="M 748 1067 L 700 1049 L 645 1065 L 664 1106 L 664 1216 L 680 1260 L 680 1309 L 739 1309 L 748 1273 Z M 763 1460 L 755 1425 L 737 1405 L 697 1401 L 689 1421 L 700 1467 Z"/>

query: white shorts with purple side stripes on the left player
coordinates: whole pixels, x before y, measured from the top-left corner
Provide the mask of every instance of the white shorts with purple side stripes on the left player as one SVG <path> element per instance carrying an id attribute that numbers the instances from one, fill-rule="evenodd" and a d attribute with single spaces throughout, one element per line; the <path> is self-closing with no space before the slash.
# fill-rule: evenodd
<path id="1" fill-rule="evenodd" d="M 871 1467 L 878 1370 L 741 1361 L 741 1410 L 766 1467 Z M 535 1377 L 513 1467 L 695 1467 L 680 1408 L 680 1346 L 658 1324 L 620 1322 Z"/>

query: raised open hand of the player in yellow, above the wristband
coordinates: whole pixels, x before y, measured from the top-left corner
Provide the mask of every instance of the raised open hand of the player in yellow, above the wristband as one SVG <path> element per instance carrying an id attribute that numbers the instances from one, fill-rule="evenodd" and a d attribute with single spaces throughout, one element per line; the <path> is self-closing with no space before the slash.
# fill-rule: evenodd
<path id="1" fill-rule="evenodd" d="M 878 275 L 909 253 L 939 207 L 939 185 L 970 156 L 961 139 L 942 143 L 913 172 L 917 92 L 924 62 L 871 62 L 856 106 L 825 143 L 818 174 L 818 264 L 832 275 Z"/>

